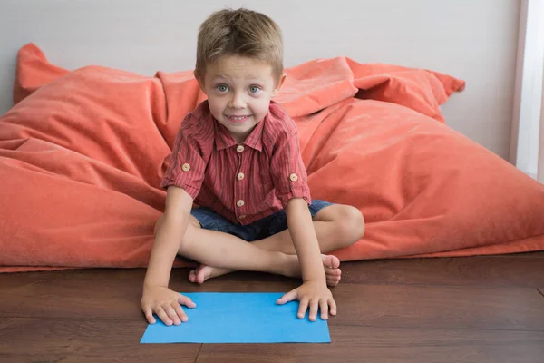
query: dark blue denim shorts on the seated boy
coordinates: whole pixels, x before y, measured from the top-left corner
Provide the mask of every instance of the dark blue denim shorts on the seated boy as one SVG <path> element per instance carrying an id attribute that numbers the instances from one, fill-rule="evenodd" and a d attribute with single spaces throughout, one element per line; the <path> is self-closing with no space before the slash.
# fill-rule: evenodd
<path id="1" fill-rule="evenodd" d="M 312 201 L 312 204 L 308 205 L 312 218 L 316 216 L 318 211 L 329 205 L 333 205 L 333 203 L 319 200 Z M 248 242 L 262 240 L 287 230 L 287 214 L 284 210 L 277 211 L 262 220 L 254 221 L 245 226 L 234 224 L 215 211 L 204 207 L 193 208 L 190 214 L 199 221 L 205 230 L 225 232 Z"/>

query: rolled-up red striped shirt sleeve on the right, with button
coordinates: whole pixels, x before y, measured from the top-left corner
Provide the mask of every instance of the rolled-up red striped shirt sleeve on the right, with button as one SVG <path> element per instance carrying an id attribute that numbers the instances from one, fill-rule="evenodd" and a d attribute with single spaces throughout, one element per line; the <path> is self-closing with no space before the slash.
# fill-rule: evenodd
<path id="1" fill-rule="evenodd" d="M 294 198 L 302 198 L 306 203 L 312 203 L 296 132 L 285 135 L 284 141 L 271 156 L 270 168 L 277 199 L 284 208 Z"/>

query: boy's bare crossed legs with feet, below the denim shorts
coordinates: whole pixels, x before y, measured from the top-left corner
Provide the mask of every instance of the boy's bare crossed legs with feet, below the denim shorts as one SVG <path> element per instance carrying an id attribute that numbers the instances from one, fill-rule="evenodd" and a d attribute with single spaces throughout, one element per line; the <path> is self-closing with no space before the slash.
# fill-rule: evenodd
<path id="1" fill-rule="evenodd" d="M 157 224 L 159 224 L 158 221 Z M 331 205 L 316 213 L 314 227 L 322 253 L 355 243 L 364 234 L 361 212 L 351 206 Z M 264 240 L 247 242 L 236 236 L 200 228 L 192 216 L 180 254 L 201 263 L 191 270 L 189 280 L 202 283 L 235 270 L 255 270 L 287 277 L 300 277 L 300 265 L 288 230 Z M 333 255 L 322 255 L 326 282 L 335 286 L 341 278 L 340 261 Z"/>

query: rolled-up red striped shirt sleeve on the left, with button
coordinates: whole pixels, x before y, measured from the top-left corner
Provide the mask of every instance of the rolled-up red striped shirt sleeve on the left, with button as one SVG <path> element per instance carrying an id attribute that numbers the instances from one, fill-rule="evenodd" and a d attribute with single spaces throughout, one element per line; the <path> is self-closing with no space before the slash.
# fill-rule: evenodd
<path id="1" fill-rule="evenodd" d="M 207 158 L 203 152 L 202 142 L 190 131 L 189 123 L 187 119 L 181 123 L 170 154 L 170 165 L 160 182 L 160 187 L 166 189 L 173 185 L 182 188 L 194 200 L 199 195 L 204 181 Z"/>

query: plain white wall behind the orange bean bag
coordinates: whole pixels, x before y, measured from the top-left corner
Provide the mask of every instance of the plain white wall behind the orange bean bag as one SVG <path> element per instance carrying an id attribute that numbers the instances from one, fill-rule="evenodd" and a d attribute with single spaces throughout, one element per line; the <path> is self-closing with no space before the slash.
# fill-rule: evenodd
<path id="1" fill-rule="evenodd" d="M 452 128 L 510 152 L 520 1 L 516 0 L 0 0 L 0 113 L 12 104 L 17 49 L 53 64 L 141 74 L 192 69 L 200 22 L 245 5 L 282 27 L 286 65 L 347 55 L 429 68 L 467 81 L 443 112 Z"/>

